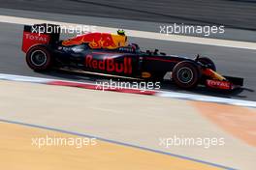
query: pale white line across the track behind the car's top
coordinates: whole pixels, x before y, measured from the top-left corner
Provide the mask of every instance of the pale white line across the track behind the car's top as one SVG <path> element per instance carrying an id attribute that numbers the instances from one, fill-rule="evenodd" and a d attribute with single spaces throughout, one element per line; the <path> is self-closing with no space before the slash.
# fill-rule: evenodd
<path id="1" fill-rule="evenodd" d="M 50 21 L 50 20 L 16 17 L 16 16 L 8 16 L 8 15 L 0 15 L 0 22 L 15 23 L 15 24 L 22 24 L 22 25 L 24 24 L 32 25 L 36 23 L 52 23 L 52 24 L 58 24 L 62 26 L 65 25 L 67 27 L 68 26 L 72 26 L 72 27 L 85 26 L 85 25 L 76 24 L 76 23 L 59 22 L 59 21 L 52 21 L 52 20 Z M 94 26 L 94 25 L 90 25 L 90 26 Z M 102 27 L 102 26 L 96 26 L 96 28 L 97 28 L 97 31 L 99 32 L 110 32 L 110 33 L 115 33 L 116 30 L 118 29 L 118 28 Z M 131 36 L 131 37 L 138 37 L 138 38 L 145 38 L 145 39 L 171 41 L 171 42 L 189 42 L 189 43 L 197 43 L 197 44 L 208 44 L 208 45 L 256 50 L 255 42 L 239 42 L 239 41 L 218 40 L 218 39 L 199 38 L 199 37 L 180 36 L 180 35 L 166 35 L 166 34 L 160 34 L 160 33 L 128 30 L 128 29 L 126 29 L 126 33 L 128 36 Z"/>

